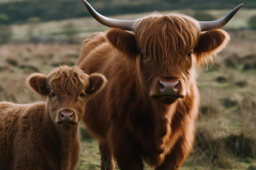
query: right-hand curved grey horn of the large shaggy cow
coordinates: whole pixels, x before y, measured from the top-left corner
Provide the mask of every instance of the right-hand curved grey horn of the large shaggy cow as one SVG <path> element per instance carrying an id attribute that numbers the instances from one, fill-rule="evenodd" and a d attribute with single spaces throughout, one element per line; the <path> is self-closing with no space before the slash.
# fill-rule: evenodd
<path id="1" fill-rule="evenodd" d="M 229 20 L 236 14 L 236 12 L 243 6 L 244 4 L 238 5 L 232 11 L 230 11 L 225 17 L 216 20 L 216 21 L 199 21 L 201 31 L 209 31 L 211 29 L 218 29 L 227 24 Z"/>

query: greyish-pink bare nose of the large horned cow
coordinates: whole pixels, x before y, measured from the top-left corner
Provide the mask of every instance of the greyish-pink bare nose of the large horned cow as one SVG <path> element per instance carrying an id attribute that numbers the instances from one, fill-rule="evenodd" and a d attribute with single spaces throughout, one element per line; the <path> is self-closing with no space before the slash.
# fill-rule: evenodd
<path id="1" fill-rule="evenodd" d="M 177 95 L 180 88 L 180 82 L 165 82 L 159 80 L 159 90 L 161 95 Z"/>

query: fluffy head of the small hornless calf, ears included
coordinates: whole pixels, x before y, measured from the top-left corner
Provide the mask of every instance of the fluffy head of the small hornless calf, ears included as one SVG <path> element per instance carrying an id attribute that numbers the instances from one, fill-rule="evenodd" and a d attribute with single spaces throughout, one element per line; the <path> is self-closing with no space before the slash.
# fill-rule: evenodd
<path id="1" fill-rule="evenodd" d="M 87 75 L 79 68 L 61 66 L 49 75 L 33 74 L 29 86 L 46 98 L 47 110 L 54 123 L 71 128 L 81 120 L 88 99 L 106 85 L 101 74 Z"/>

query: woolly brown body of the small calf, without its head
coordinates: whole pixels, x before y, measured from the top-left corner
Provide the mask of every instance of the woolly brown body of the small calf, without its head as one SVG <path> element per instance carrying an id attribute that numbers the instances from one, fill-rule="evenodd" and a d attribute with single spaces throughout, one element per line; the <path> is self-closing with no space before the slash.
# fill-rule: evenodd
<path id="1" fill-rule="evenodd" d="M 79 160 L 78 129 L 54 126 L 45 102 L 1 102 L 0 116 L 1 170 L 74 170 Z"/>

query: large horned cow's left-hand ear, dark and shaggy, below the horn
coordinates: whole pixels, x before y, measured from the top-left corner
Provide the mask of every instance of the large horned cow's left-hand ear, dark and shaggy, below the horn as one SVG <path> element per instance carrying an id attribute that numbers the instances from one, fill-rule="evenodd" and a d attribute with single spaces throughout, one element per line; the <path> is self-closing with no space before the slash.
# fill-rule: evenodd
<path id="1" fill-rule="evenodd" d="M 106 39 L 121 53 L 127 55 L 129 59 L 135 59 L 139 54 L 134 32 L 124 31 L 122 29 L 110 29 L 106 32 Z"/>

